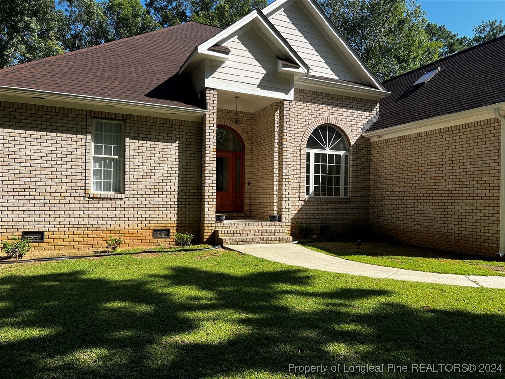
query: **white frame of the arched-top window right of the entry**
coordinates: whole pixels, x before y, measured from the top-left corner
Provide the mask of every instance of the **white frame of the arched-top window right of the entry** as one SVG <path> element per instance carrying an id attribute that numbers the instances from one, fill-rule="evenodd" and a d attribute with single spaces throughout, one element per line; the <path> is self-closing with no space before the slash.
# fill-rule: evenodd
<path id="1" fill-rule="evenodd" d="M 319 127 L 324 126 L 319 125 L 316 129 L 312 131 L 314 133 L 315 130 L 317 130 Z M 342 137 L 345 138 L 344 134 L 335 128 L 332 125 L 328 125 L 335 130 L 337 130 L 340 134 L 342 134 Z M 312 133 L 310 135 L 312 135 Z M 309 136 L 310 138 L 310 136 Z M 345 141 L 345 145 L 348 147 L 347 141 Z M 339 195 L 334 195 L 334 196 L 316 196 L 314 194 L 314 155 L 315 154 L 326 154 L 326 155 L 334 155 L 334 156 L 340 156 L 340 194 Z M 310 154 L 310 174 L 309 174 L 309 195 L 307 195 L 307 154 Z M 347 165 L 345 162 L 347 161 Z M 341 150 L 326 150 L 326 149 L 305 149 L 305 185 L 304 185 L 304 195 L 306 198 L 317 198 L 317 199 L 335 199 L 335 198 L 348 198 L 349 197 L 349 151 L 341 151 Z M 345 177 L 347 176 L 347 186 L 345 186 Z M 345 191 L 347 189 L 347 191 Z M 347 194 L 345 194 L 347 192 Z"/>

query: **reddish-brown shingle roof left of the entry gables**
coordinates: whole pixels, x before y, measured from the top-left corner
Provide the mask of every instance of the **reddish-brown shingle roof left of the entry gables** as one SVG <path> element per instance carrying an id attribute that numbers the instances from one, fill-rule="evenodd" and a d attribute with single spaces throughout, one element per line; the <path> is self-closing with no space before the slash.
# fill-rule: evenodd
<path id="1" fill-rule="evenodd" d="M 188 22 L 2 69 L 2 86 L 198 108 L 176 75 L 197 45 L 222 29 Z"/>

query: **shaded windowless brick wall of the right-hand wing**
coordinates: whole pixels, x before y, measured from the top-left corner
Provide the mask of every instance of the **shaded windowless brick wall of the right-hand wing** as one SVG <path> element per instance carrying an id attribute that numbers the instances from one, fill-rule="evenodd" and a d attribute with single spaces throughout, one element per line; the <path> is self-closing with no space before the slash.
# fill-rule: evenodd
<path id="1" fill-rule="evenodd" d="M 371 223 L 409 244 L 494 256 L 499 160 L 496 119 L 374 141 Z"/>

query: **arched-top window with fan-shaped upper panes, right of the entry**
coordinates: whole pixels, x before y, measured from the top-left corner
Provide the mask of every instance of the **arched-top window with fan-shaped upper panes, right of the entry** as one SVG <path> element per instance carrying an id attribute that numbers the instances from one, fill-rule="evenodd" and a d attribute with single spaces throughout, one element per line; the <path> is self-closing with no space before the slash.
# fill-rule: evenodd
<path id="1" fill-rule="evenodd" d="M 306 196 L 348 196 L 349 147 L 338 129 L 321 125 L 311 133 L 306 162 Z"/>

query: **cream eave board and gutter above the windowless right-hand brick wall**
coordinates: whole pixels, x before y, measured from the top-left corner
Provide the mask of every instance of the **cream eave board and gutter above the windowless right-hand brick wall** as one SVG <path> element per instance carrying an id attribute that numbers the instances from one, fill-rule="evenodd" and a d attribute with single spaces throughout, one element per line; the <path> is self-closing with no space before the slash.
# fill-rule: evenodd
<path id="1" fill-rule="evenodd" d="M 450 113 L 448 115 L 413 121 L 407 124 L 395 125 L 385 129 L 374 130 L 371 132 L 363 133 L 363 136 L 367 138 L 374 138 L 373 140 L 376 141 L 420 133 L 423 131 L 442 129 L 448 126 L 468 124 L 475 121 L 494 118 L 495 108 L 499 108 L 501 111 L 505 110 L 505 102 L 486 105 L 484 107 L 474 109 L 468 109 L 466 111 Z"/>

